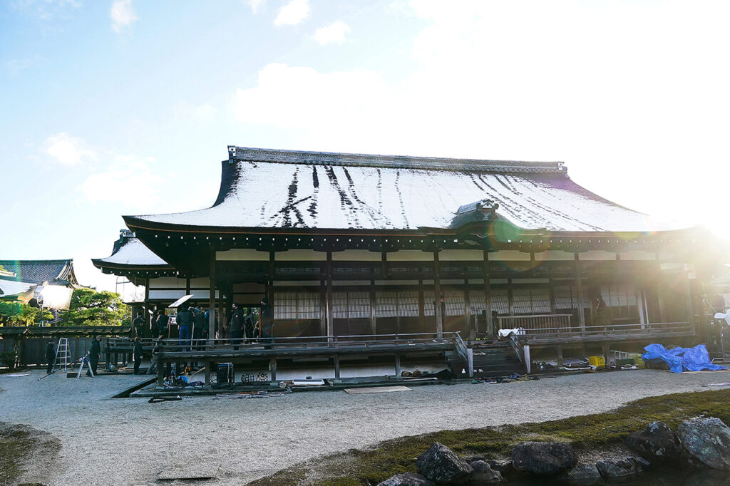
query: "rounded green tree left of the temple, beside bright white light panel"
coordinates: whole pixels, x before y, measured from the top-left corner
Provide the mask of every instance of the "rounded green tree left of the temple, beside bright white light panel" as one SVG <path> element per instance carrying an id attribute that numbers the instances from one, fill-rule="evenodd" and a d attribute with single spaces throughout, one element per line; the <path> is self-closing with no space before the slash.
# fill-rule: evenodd
<path id="1" fill-rule="evenodd" d="M 121 325 L 127 306 L 118 293 L 78 288 L 71 296 L 66 325 Z"/>

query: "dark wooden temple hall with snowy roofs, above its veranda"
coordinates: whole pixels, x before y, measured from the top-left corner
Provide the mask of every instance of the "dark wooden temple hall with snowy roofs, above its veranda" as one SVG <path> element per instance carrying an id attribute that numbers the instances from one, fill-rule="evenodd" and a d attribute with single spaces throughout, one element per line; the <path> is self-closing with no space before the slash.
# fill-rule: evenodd
<path id="1" fill-rule="evenodd" d="M 125 216 L 93 263 L 150 307 L 192 293 L 226 319 L 267 297 L 275 337 L 696 335 L 698 230 L 607 201 L 564 163 L 229 146 L 221 169 L 212 207 Z"/>

